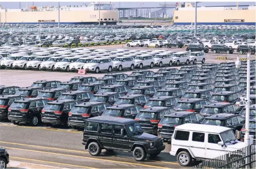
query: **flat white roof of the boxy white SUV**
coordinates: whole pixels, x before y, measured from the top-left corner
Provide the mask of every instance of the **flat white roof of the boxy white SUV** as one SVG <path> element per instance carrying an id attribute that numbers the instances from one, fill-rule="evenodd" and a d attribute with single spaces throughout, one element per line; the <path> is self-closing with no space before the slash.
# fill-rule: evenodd
<path id="1" fill-rule="evenodd" d="M 186 123 L 183 125 L 179 125 L 175 127 L 178 130 L 189 130 L 189 131 L 201 131 L 201 132 L 212 132 L 212 133 L 221 133 L 224 131 L 231 130 L 228 127 L 222 126 L 212 126 L 212 125 L 204 125 L 202 124 L 193 124 L 193 123 Z"/>

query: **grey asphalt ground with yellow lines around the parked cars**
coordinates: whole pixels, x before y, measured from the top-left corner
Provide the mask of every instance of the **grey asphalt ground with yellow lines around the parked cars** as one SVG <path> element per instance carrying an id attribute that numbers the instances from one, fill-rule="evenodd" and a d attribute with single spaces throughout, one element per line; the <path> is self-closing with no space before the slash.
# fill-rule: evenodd
<path id="1" fill-rule="evenodd" d="M 97 48 L 121 48 L 122 45 L 98 46 Z M 154 48 L 131 47 L 130 49 Z M 185 49 L 168 48 L 174 51 Z M 219 55 L 220 56 L 220 55 Z M 222 55 L 223 56 L 223 55 Z M 225 55 L 224 55 L 225 56 Z M 217 54 L 206 54 L 206 63 L 235 61 L 237 54 L 228 55 L 228 60 L 217 60 Z M 184 64 L 185 65 L 185 64 Z M 197 64 L 201 65 L 201 64 Z M 180 65 L 182 66 L 182 65 Z M 180 66 L 172 66 L 179 68 Z M 159 67 L 150 69 L 156 72 Z M 117 71 L 113 71 L 117 72 Z M 122 71 L 130 74 L 132 71 Z M 83 76 L 102 77 L 100 74 L 88 73 Z M 27 87 L 36 80 L 69 81 L 78 76 L 72 72 L 0 70 L 0 85 Z M 102 151 L 99 157 L 89 155 L 82 145 L 82 130 L 64 128 L 63 126 L 38 127 L 13 125 L 9 121 L 0 122 L 0 146 L 10 154 L 10 160 L 53 165 L 66 168 L 184 168 L 177 163 L 176 157 L 170 156 L 171 146 L 165 143 L 165 149 L 158 157 L 147 156 L 144 162 L 133 159 L 132 153 L 123 151 Z"/>

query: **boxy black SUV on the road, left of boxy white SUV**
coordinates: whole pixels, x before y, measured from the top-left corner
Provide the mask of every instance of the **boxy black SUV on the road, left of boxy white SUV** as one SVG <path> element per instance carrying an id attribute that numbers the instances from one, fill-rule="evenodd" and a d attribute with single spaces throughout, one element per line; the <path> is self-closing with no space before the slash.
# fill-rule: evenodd
<path id="1" fill-rule="evenodd" d="M 123 150 L 132 152 L 137 161 L 147 154 L 157 156 L 165 148 L 160 138 L 145 133 L 137 121 L 110 116 L 87 119 L 82 144 L 92 156 L 99 156 L 102 149 Z"/>

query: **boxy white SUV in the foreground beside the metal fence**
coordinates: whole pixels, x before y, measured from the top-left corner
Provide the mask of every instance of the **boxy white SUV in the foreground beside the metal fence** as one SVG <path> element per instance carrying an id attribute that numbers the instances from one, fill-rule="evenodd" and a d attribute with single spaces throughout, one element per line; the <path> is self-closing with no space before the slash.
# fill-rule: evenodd
<path id="1" fill-rule="evenodd" d="M 192 123 L 176 126 L 171 144 L 170 155 L 177 156 L 182 166 L 189 166 L 193 159 L 213 159 L 246 146 L 231 128 Z M 233 161 L 236 157 L 230 158 Z"/>

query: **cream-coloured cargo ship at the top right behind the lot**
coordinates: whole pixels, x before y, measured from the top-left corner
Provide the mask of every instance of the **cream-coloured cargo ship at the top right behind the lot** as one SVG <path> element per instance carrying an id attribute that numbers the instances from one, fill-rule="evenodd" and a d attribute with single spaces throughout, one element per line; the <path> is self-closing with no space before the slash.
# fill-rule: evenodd
<path id="1" fill-rule="evenodd" d="M 202 25 L 255 25 L 255 5 L 237 7 L 197 7 L 197 24 Z M 178 4 L 173 11 L 174 25 L 195 22 L 193 3 Z"/>

